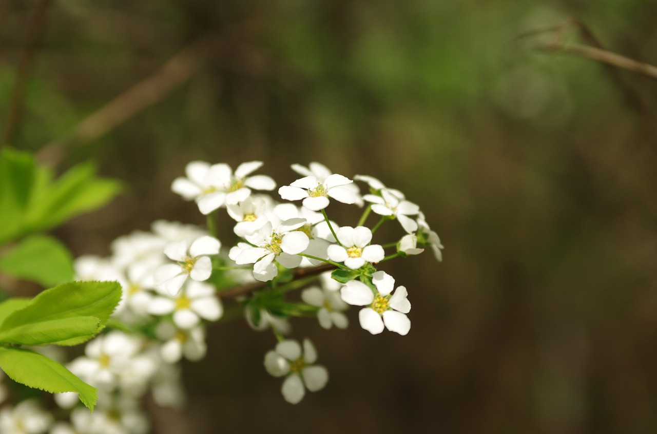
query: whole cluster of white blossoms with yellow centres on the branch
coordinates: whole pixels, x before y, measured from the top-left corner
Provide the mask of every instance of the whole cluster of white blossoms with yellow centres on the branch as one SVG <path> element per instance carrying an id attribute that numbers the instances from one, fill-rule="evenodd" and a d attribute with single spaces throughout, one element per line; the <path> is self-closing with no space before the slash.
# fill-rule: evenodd
<path id="1" fill-rule="evenodd" d="M 76 279 L 119 281 L 123 288 L 106 332 L 67 365 L 99 389 L 97 408 L 89 413 L 75 394 L 62 393 L 55 401 L 70 417 L 55 420 L 26 402 L 0 413 L 0 425 L 24 427 L 7 432 L 148 432 L 143 396 L 150 390 L 162 406 L 183 404 L 179 362 L 206 355 L 206 325 L 222 317 L 222 299 L 237 298 L 252 328 L 273 332 L 278 344 L 266 353 L 264 366 L 284 377 L 283 397 L 295 404 L 306 389 L 325 387 L 328 371 L 315 364 L 310 340 L 300 344 L 285 337 L 293 317 L 315 317 L 322 328 L 345 329 L 349 307 L 359 306 L 359 324 L 371 334 L 386 328 L 409 332 L 407 290 L 378 267 L 424 247 L 442 260 L 440 239 L 418 205 L 371 176 L 355 175 L 353 180 L 367 187 L 361 194 L 352 179 L 319 163 L 292 165 L 301 177 L 277 189 L 269 176 L 254 174 L 261 166 L 251 161 L 233 172 L 223 163 L 189 163 L 186 176 L 173 180 L 171 189 L 196 203 L 207 216 L 206 229 L 158 220 L 148 232 L 116 239 L 108 258 L 76 260 Z M 262 193 L 276 190 L 277 195 Z M 361 218 L 344 225 L 340 217 L 331 220 L 327 210 L 335 203 L 361 208 Z M 378 221 L 369 225 L 374 214 Z M 399 221 L 399 236 L 377 239 L 388 220 Z M 221 222 L 231 222 L 235 234 L 221 239 L 237 237 L 229 247 L 219 241 Z M 295 290 L 300 290 L 296 298 Z M 32 418 L 40 421 L 34 422 L 37 427 L 20 422 L 23 414 L 39 411 L 43 417 Z"/>

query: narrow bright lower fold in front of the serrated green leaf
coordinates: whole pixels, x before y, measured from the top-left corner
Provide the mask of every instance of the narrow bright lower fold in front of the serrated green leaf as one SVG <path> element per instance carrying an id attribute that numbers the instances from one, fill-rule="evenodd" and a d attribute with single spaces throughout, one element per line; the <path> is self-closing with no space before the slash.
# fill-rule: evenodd
<path id="1" fill-rule="evenodd" d="M 40 321 L 0 332 L 0 342 L 44 345 L 96 334 L 101 322 L 96 317 L 72 317 Z"/>

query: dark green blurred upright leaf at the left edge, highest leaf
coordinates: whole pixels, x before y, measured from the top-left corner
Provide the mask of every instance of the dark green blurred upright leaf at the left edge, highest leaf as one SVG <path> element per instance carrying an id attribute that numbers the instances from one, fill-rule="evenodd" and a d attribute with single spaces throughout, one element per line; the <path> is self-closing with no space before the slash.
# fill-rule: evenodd
<path id="1" fill-rule="evenodd" d="M 20 235 L 34 182 L 34 159 L 28 153 L 0 153 L 0 244 Z"/>

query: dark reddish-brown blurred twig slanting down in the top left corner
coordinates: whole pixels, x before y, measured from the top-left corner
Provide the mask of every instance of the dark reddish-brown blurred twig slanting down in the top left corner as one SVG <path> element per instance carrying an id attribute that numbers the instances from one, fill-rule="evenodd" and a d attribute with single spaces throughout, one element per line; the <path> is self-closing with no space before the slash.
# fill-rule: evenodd
<path id="1" fill-rule="evenodd" d="M 34 12 L 34 18 L 32 18 L 32 23 L 30 24 L 30 29 L 28 30 L 28 39 L 25 44 L 25 49 L 23 50 L 20 63 L 16 71 L 16 82 L 14 84 L 14 89 L 12 90 L 11 95 L 11 108 L 9 109 L 9 117 L 7 119 L 7 127 L 5 128 L 5 134 L 3 135 L 3 140 L 0 143 L 0 147 L 3 145 L 11 144 L 14 140 L 14 136 L 20 127 L 20 121 L 23 114 L 23 100 L 25 96 L 25 89 L 28 84 L 28 79 L 30 76 L 30 69 L 32 69 L 32 64 L 34 63 L 34 56 L 36 53 L 37 45 L 39 45 L 39 39 L 43 35 L 43 31 L 46 27 L 46 18 L 47 18 L 47 9 L 50 0 L 39 0 L 36 10 Z"/>

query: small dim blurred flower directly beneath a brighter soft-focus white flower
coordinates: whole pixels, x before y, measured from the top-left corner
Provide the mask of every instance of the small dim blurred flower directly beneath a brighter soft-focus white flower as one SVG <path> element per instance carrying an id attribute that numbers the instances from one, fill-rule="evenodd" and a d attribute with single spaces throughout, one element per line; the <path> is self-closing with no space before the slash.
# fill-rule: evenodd
<path id="1" fill-rule="evenodd" d="M 177 363 L 185 356 L 189 361 L 199 361 L 206 355 L 205 328 L 196 326 L 191 330 L 179 330 L 171 323 L 160 323 L 155 330 L 164 344 L 160 356 L 166 363 Z"/>

